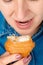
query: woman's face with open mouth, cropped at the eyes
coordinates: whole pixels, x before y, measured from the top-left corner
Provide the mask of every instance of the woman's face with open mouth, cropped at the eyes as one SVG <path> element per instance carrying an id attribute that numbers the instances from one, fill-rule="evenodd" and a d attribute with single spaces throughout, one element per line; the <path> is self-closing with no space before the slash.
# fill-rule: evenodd
<path id="1" fill-rule="evenodd" d="M 43 0 L 0 0 L 7 22 L 20 34 L 33 35 L 43 18 Z"/>

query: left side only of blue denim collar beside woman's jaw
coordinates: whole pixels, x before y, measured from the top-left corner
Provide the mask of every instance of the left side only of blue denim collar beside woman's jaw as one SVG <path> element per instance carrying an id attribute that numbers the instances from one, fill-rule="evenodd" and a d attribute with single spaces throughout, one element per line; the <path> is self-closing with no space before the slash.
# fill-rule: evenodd
<path id="1" fill-rule="evenodd" d="M 4 19 L 3 15 L 0 14 L 0 37 L 5 35 L 5 34 L 15 34 L 17 36 L 19 36 L 19 33 L 17 33 Z"/>

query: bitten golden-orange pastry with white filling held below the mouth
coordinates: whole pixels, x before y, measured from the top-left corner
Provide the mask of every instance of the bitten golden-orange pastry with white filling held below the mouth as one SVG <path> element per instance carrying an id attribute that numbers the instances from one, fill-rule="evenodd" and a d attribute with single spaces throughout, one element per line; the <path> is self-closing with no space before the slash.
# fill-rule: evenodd
<path id="1" fill-rule="evenodd" d="M 35 43 L 29 35 L 25 36 L 8 36 L 5 43 L 5 49 L 10 54 L 21 54 L 27 57 L 35 47 Z"/>

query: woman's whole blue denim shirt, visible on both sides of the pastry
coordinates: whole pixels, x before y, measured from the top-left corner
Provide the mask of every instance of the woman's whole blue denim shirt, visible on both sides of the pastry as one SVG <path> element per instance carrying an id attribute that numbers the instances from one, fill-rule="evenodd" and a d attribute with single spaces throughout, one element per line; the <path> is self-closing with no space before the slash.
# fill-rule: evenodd
<path id="1" fill-rule="evenodd" d="M 7 40 L 8 35 L 18 34 L 4 19 L 2 13 L 0 13 L 0 55 L 5 53 L 4 44 Z M 29 65 L 43 65 L 43 24 L 40 29 L 32 37 L 35 42 L 35 48 L 31 52 L 32 60 Z"/>

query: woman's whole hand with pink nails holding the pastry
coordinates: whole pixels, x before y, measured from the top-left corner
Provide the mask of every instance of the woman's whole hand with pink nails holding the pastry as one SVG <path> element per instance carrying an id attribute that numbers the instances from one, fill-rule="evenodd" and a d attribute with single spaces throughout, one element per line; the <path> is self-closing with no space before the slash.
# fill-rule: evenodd
<path id="1" fill-rule="evenodd" d="M 17 62 L 10 65 L 28 65 L 31 60 L 31 55 L 28 58 L 21 58 L 22 56 L 19 54 L 10 55 L 8 52 L 6 52 L 2 56 L 0 56 L 0 65 L 7 65 L 17 60 Z"/>

